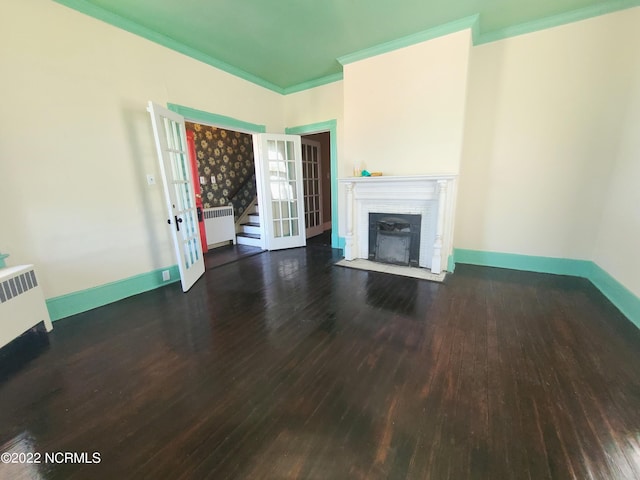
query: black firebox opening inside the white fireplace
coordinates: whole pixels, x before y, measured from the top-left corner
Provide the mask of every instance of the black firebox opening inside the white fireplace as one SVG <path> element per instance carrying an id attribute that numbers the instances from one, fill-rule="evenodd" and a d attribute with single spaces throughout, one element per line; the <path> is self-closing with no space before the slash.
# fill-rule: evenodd
<path id="1" fill-rule="evenodd" d="M 369 260 L 418 266 L 421 215 L 369 214 Z"/>

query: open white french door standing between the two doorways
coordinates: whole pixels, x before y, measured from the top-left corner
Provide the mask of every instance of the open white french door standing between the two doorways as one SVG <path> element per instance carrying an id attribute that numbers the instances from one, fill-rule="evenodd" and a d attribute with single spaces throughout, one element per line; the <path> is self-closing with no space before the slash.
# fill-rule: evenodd
<path id="1" fill-rule="evenodd" d="M 260 216 L 265 248 L 304 247 L 304 202 L 300 137 L 262 133 L 254 136 Z"/>

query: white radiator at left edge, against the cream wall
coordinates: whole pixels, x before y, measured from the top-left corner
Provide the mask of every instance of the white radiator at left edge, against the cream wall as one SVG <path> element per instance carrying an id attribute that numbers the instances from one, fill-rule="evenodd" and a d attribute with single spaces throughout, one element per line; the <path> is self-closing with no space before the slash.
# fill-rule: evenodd
<path id="1" fill-rule="evenodd" d="M 40 322 L 53 329 L 33 265 L 0 268 L 0 347 Z"/>

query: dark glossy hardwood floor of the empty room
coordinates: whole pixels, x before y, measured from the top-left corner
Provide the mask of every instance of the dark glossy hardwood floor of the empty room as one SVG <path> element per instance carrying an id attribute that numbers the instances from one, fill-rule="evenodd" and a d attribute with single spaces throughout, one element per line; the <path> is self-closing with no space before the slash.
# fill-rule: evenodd
<path id="1" fill-rule="evenodd" d="M 9 345 L 0 450 L 42 463 L 0 477 L 640 478 L 640 331 L 588 281 L 337 253 L 252 256 Z"/>

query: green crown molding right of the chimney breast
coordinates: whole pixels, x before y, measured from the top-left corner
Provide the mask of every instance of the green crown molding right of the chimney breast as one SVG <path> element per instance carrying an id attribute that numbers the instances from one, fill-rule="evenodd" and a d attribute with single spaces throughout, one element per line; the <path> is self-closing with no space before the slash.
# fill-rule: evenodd
<path id="1" fill-rule="evenodd" d="M 531 22 L 521 23 L 520 25 L 514 25 L 502 30 L 480 34 L 478 37 L 475 37 L 474 45 L 496 42 L 498 40 L 504 40 L 518 35 L 559 27 L 561 25 L 579 22 L 580 20 L 586 20 L 588 18 L 598 17 L 600 15 L 606 15 L 607 13 L 626 10 L 637 6 L 640 6 L 640 0 L 612 0 L 598 5 L 591 5 L 571 12 L 560 13 L 551 17 L 545 17 Z"/>

